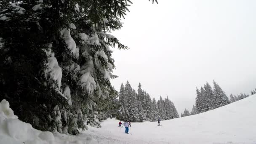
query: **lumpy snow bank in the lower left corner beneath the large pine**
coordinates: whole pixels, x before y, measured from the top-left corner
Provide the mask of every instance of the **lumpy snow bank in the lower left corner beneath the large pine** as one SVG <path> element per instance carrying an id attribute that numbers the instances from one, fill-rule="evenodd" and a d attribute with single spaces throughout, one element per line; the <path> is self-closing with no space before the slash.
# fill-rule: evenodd
<path id="1" fill-rule="evenodd" d="M 38 131 L 13 114 L 9 102 L 0 102 L 0 144 L 55 144 L 53 133 Z"/>

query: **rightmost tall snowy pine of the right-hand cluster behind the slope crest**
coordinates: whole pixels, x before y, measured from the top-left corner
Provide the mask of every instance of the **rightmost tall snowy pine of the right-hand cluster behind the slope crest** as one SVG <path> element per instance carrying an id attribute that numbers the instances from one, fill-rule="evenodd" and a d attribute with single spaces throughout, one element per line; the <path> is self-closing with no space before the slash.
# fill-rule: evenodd
<path id="1" fill-rule="evenodd" d="M 215 98 L 216 106 L 214 108 L 222 107 L 230 103 L 227 95 L 222 88 L 213 80 L 213 95 Z"/>

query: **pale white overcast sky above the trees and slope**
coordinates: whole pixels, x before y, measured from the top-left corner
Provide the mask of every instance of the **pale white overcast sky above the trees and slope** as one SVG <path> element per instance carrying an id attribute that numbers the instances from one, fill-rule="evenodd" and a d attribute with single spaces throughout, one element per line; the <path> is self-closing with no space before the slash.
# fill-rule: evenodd
<path id="1" fill-rule="evenodd" d="M 150 96 L 192 110 L 196 87 L 215 80 L 229 96 L 256 88 L 256 0 L 132 0 L 112 34 L 117 91 L 128 80 Z"/>

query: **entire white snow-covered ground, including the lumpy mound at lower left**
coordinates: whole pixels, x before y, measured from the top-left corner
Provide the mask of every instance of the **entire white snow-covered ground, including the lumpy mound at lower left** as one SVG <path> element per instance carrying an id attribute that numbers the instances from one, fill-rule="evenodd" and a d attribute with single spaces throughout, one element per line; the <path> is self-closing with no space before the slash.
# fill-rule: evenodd
<path id="1" fill-rule="evenodd" d="M 89 127 L 78 136 L 37 131 L 0 104 L 0 144 L 256 144 L 256 95 L 198 115 L 157 122 L 131 123 L 130 134 L 119 120 Z"/>

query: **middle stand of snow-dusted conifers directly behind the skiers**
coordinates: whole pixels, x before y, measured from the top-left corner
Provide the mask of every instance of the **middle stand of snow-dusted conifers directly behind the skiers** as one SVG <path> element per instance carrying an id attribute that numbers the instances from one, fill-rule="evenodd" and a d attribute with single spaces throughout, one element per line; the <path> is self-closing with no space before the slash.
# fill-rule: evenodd
<path id="1" fill-rule="evenodd" d="M 144 120 L 157 121 L 178 118 L 179 114 L 174 103 L 168 98 L 163 100 L 160 96 L 158 101 L 151 100 L 149 93 L 141 89 L 135 91 L 127 81 L 120 87 L 117 119 L 130 120 L 132 122 L 143 122 Z"/>

